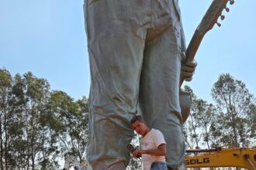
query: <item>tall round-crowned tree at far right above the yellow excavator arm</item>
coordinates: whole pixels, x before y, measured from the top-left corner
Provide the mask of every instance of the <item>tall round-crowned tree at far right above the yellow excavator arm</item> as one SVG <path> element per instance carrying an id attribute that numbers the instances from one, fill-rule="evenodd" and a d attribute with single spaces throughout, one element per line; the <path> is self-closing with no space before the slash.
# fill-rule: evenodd
<path id="1" fill-rule="evenodd" d="M 253 108 L 253 96 L 240 80 L 230 74 L 222 74 L 214 83 L 213 100 L 219 108 L 221 142 L 229 147 L 247 147 L 252 134 L 249 115 Z"/>

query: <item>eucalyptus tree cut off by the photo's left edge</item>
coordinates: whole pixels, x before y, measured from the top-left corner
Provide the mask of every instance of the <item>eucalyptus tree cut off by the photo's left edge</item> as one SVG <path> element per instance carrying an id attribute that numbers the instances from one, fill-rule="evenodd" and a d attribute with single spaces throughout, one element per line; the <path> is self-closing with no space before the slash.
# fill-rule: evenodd
<path id="1" fill-rule="evenodd" d="M 0 70 L 0 152 L 1 169 L 14 168 L 19 157 L 16 143 L 22 137 L 21 113 L 25 104 L 22 77 L 15 77 L 8 70 Z M 18 142 L 21 144 L 21 142 Z M 3 165 L 4 161 L 4 165 Z"/>

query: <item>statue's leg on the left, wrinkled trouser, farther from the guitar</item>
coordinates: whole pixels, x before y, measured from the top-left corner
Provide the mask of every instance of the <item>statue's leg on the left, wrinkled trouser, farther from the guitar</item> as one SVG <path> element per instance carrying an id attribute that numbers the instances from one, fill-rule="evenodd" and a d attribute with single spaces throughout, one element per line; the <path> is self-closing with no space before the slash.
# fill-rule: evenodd
<path id="1" fill-rule="evenodd" d="M 137 113 L 145 35 L 134 31 L 131 2 L 85 3 L 91 69 L 87 158 L 93 169 L 122 170 L 130 159 L 126 144 L 133 138 L 130 119 Z"/>

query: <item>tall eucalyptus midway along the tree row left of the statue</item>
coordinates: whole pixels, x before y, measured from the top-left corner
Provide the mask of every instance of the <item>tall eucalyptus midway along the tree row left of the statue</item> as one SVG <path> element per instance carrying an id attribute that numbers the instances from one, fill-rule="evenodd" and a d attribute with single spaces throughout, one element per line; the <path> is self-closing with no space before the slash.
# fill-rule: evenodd
<path id="1" fill-rule="evenodd" d="M 33 73 L 25 73 L 23 75 L 25 84 L 24 93 L 26 104 L 22 116 L 26 122 L 24 127 L 24 136 L 26 140 L 26 164 L 32 169 L 36 167 L 36 161 L 40 158 L 42 146 L 41 139 L 47 134 L 45 128 L 40 124 L 40 117 L 47 112 L 47 104 L 50 97 L 50 84 L 47 80 L 37 78 Z"/>

